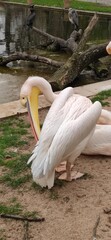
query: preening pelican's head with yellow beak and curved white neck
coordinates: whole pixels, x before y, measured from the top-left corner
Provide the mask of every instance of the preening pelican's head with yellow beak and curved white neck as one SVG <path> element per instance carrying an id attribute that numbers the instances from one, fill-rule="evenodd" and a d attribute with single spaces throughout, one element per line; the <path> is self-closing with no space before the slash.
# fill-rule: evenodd
<path id="1" fill-rule="evenodd" d="M 47 101 L 52 103 L 57 95 L 52 91 L 50 83 L 42 77 L 29 77 L 20 91 L 20 101 L 28 109 L 30 123 L 36 141 L 40 136 L 40 124 L 38 116 L 38 96 L 43 93 Z"/>

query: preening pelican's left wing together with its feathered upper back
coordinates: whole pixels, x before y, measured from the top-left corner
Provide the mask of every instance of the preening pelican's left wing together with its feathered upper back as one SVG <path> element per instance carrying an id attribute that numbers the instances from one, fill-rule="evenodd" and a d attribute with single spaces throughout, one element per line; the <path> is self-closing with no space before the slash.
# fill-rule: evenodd
<path id="1" fill-rule="evenodd" d="M 53 102 L 47 114 L 41 131 L 39 144 L 35 148 L 28 163 L 34 160 L 37 163 L 41 162 L 45 158 L 52 144 L 53 138 L 63 122 L 66 119 L 67 121 L 68 119 L 76 119 L 91 105 L 92 103 L 90 99 L 73 94 L 72 88 L 63 90 Z"/>

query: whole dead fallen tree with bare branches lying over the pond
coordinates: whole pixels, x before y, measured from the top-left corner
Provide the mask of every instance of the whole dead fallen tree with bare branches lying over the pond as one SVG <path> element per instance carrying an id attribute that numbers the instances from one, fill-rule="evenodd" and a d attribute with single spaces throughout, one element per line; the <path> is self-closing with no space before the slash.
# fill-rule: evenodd
<path id="1" fill-rule="evenodd" d="M 47 46 L 52 45 L 54 50 L 67 49 L 70 51 L 70 53 L 72 53 L 71 57 L 65 63 L 39 55 L 29 55 L 27 53 L 17 52 L 9 55 L 8 57 L 0 57 L 0 66 L 6 66 L 9 62 L 16 60 L 40 62 L 51 65 L 57 68 L 57 71 L 53 74 L 50 80 L 51 82 L 53 81 L 56 83 L 58 89 L 63 89 L 71 84 L 76 77 L 80 75 L 84 68 L 88 67 L 91 63 L 97 62 L 99 58 L 108 55 L 106 52 L 106 45 L 108 43 L 96 45 L 85 50 L 89 36 L 93 31 L 97 21 L 98 16 L 97 14 L 94 14 L 83 35 L 81 29 L 79 29 L 78 32 L 74 30 L 67 40 L 52 36 L 35 27 L 32 27 L 34 31 L 47 39 Z M 107 69 L 105 69 L 105 71 L 107 72 Z"/>

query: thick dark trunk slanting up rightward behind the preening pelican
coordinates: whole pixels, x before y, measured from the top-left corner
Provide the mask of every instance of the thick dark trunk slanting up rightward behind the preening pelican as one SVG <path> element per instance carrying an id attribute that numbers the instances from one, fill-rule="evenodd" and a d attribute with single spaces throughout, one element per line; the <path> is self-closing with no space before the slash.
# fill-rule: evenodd
<path id="1" fill-rule="evenodd" d="M 67 87 L 74 82 L 81 71 L 89 66 L 90 63 L 97 61 L 101 57 L 107 56 L 107 43 L 92 47 L 83 53 L 78 53 L 71 57 L 50 79 L 57 83 L 59 89 Z"/>

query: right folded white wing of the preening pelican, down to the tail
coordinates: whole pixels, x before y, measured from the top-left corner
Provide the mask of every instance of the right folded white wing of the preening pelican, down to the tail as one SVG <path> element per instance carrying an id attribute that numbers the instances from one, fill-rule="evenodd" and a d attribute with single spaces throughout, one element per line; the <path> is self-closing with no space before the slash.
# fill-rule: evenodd
<path id="1" fill-rule="evenodd" d="M 74 153 L 74 149 L 90 134 L 101 114 L 101 104 L 96 102 L 77 119 L 67 116 L 59 127 L 51 145 L 42 159 L 35 159 L 32 163 L 34 179 L 47 178 L 53 174 L 50 187 L 53 186 L 54 170 L 66 156 Z M 81 153 L 82 149 L 80 149 Z M 37 182 L 37 181 L 36 181 Z"/>

